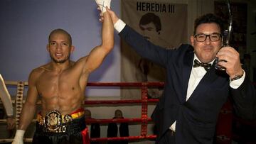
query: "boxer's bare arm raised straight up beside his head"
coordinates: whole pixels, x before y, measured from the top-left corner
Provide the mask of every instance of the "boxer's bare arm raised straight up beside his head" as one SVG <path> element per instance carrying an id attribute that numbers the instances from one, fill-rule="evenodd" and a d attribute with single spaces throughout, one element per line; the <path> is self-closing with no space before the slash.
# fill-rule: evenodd
<path id="1" fill-rule="evenodd" d="M 92 72 L 100 67 L 107 54 L 114 47 L 114 26 L 109 12 L 103 13 L 104 21 L 102 23 L 102 43 L 92 49 L 85 58 L 85 67 L 83 72 Z"/>

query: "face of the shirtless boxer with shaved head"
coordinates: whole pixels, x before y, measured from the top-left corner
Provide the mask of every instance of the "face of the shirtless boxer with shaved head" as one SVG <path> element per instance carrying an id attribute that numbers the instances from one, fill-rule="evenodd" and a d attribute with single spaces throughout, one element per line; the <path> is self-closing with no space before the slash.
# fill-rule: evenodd
<path id="1" fill-rule="evenodd" d="M 69 60 L 70 52 L 73 52 L 74 48 L 70 45 L 68 35 L 64 33 L 54 33 L 50 36 L 47 50 L 53 62 L 63 63 Z"/>

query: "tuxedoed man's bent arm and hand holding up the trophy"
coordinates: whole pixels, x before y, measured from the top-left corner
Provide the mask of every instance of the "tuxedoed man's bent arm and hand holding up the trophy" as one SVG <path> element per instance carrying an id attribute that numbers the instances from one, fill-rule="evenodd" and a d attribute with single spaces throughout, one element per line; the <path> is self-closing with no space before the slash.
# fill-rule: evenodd
<path id="1" fill-rule="evenodd" d="M 242 70 L 239 52 L 232 47 L 223 47 L 216 55 L 219 65 L 225 67 L 230 76 L 231 96 L 235 113 L 241 118 L 253 120 L 256 118 L 256 90 L 250 82 L 248 74 Z"/>

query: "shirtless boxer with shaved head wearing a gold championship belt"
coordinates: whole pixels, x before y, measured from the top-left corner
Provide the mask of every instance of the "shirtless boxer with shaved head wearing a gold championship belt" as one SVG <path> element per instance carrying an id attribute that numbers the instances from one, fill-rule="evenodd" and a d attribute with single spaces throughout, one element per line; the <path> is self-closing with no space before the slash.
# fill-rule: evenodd
<path id="1" fill-rule="evenodd" d="M 74 51 L 71 36 L 62 29 L 52 31 L 47 50 L 51 62 L 34 69 L 28 78 L 28 94 L 13 143 L 23 143 L 23 134 L 41 100 L 33 143 L 90 143 L 84 137 L 85 116 L 82 104 L 91 72 L 114 47 L 114 28 L 108 12 L 103 13 L 102 44 L 77 62 L 70 60 Z"/>

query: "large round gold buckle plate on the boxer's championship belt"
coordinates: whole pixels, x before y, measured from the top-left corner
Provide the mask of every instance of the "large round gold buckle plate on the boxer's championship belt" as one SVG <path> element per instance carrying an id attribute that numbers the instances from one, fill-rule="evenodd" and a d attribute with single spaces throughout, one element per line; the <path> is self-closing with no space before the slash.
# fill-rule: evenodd
<path id="1" fill-rule="evenodd" d="M 61 120 L 62 120 L 62 117 L 59 111 L 56 111 L 56 110 L 49 111 L 46 114 L 46 119 L 45 119 L 47 130 L 54 133 L 65 132 L 63 131 L 65 130 L 65 128 L 63 128 L 65 126 L 61 126 L 62 125 Z"/>

